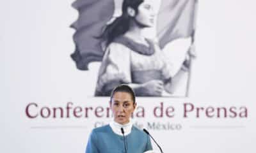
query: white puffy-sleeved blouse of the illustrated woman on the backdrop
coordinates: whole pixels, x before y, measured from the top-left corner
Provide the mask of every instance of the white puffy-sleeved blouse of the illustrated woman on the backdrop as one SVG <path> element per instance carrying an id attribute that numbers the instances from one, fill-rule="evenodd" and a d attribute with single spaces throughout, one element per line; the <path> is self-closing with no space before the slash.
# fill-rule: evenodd
<path id="1" fill-rule="evenodd" d="M 154 54 L 143 55 L 131 48 L 113 42 L 104 54 L 99 70 L 96 91 L 102 91 L 109 82 L 143 84 L 150 80 L 167 80 L 175 74 L 164 52 L 154 44 Z"/>

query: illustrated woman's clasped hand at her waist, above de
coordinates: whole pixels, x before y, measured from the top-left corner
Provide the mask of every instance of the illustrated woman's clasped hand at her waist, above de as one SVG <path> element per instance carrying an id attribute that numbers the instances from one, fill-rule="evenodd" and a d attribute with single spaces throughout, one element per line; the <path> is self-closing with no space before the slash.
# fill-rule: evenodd
<path id="1" fill-rule="evenodd" d="M 150 80 L 143 85 L 143 92 L 149 96 L 161 96 L 164 90 L 164 83 L 161 80 Z"/>

